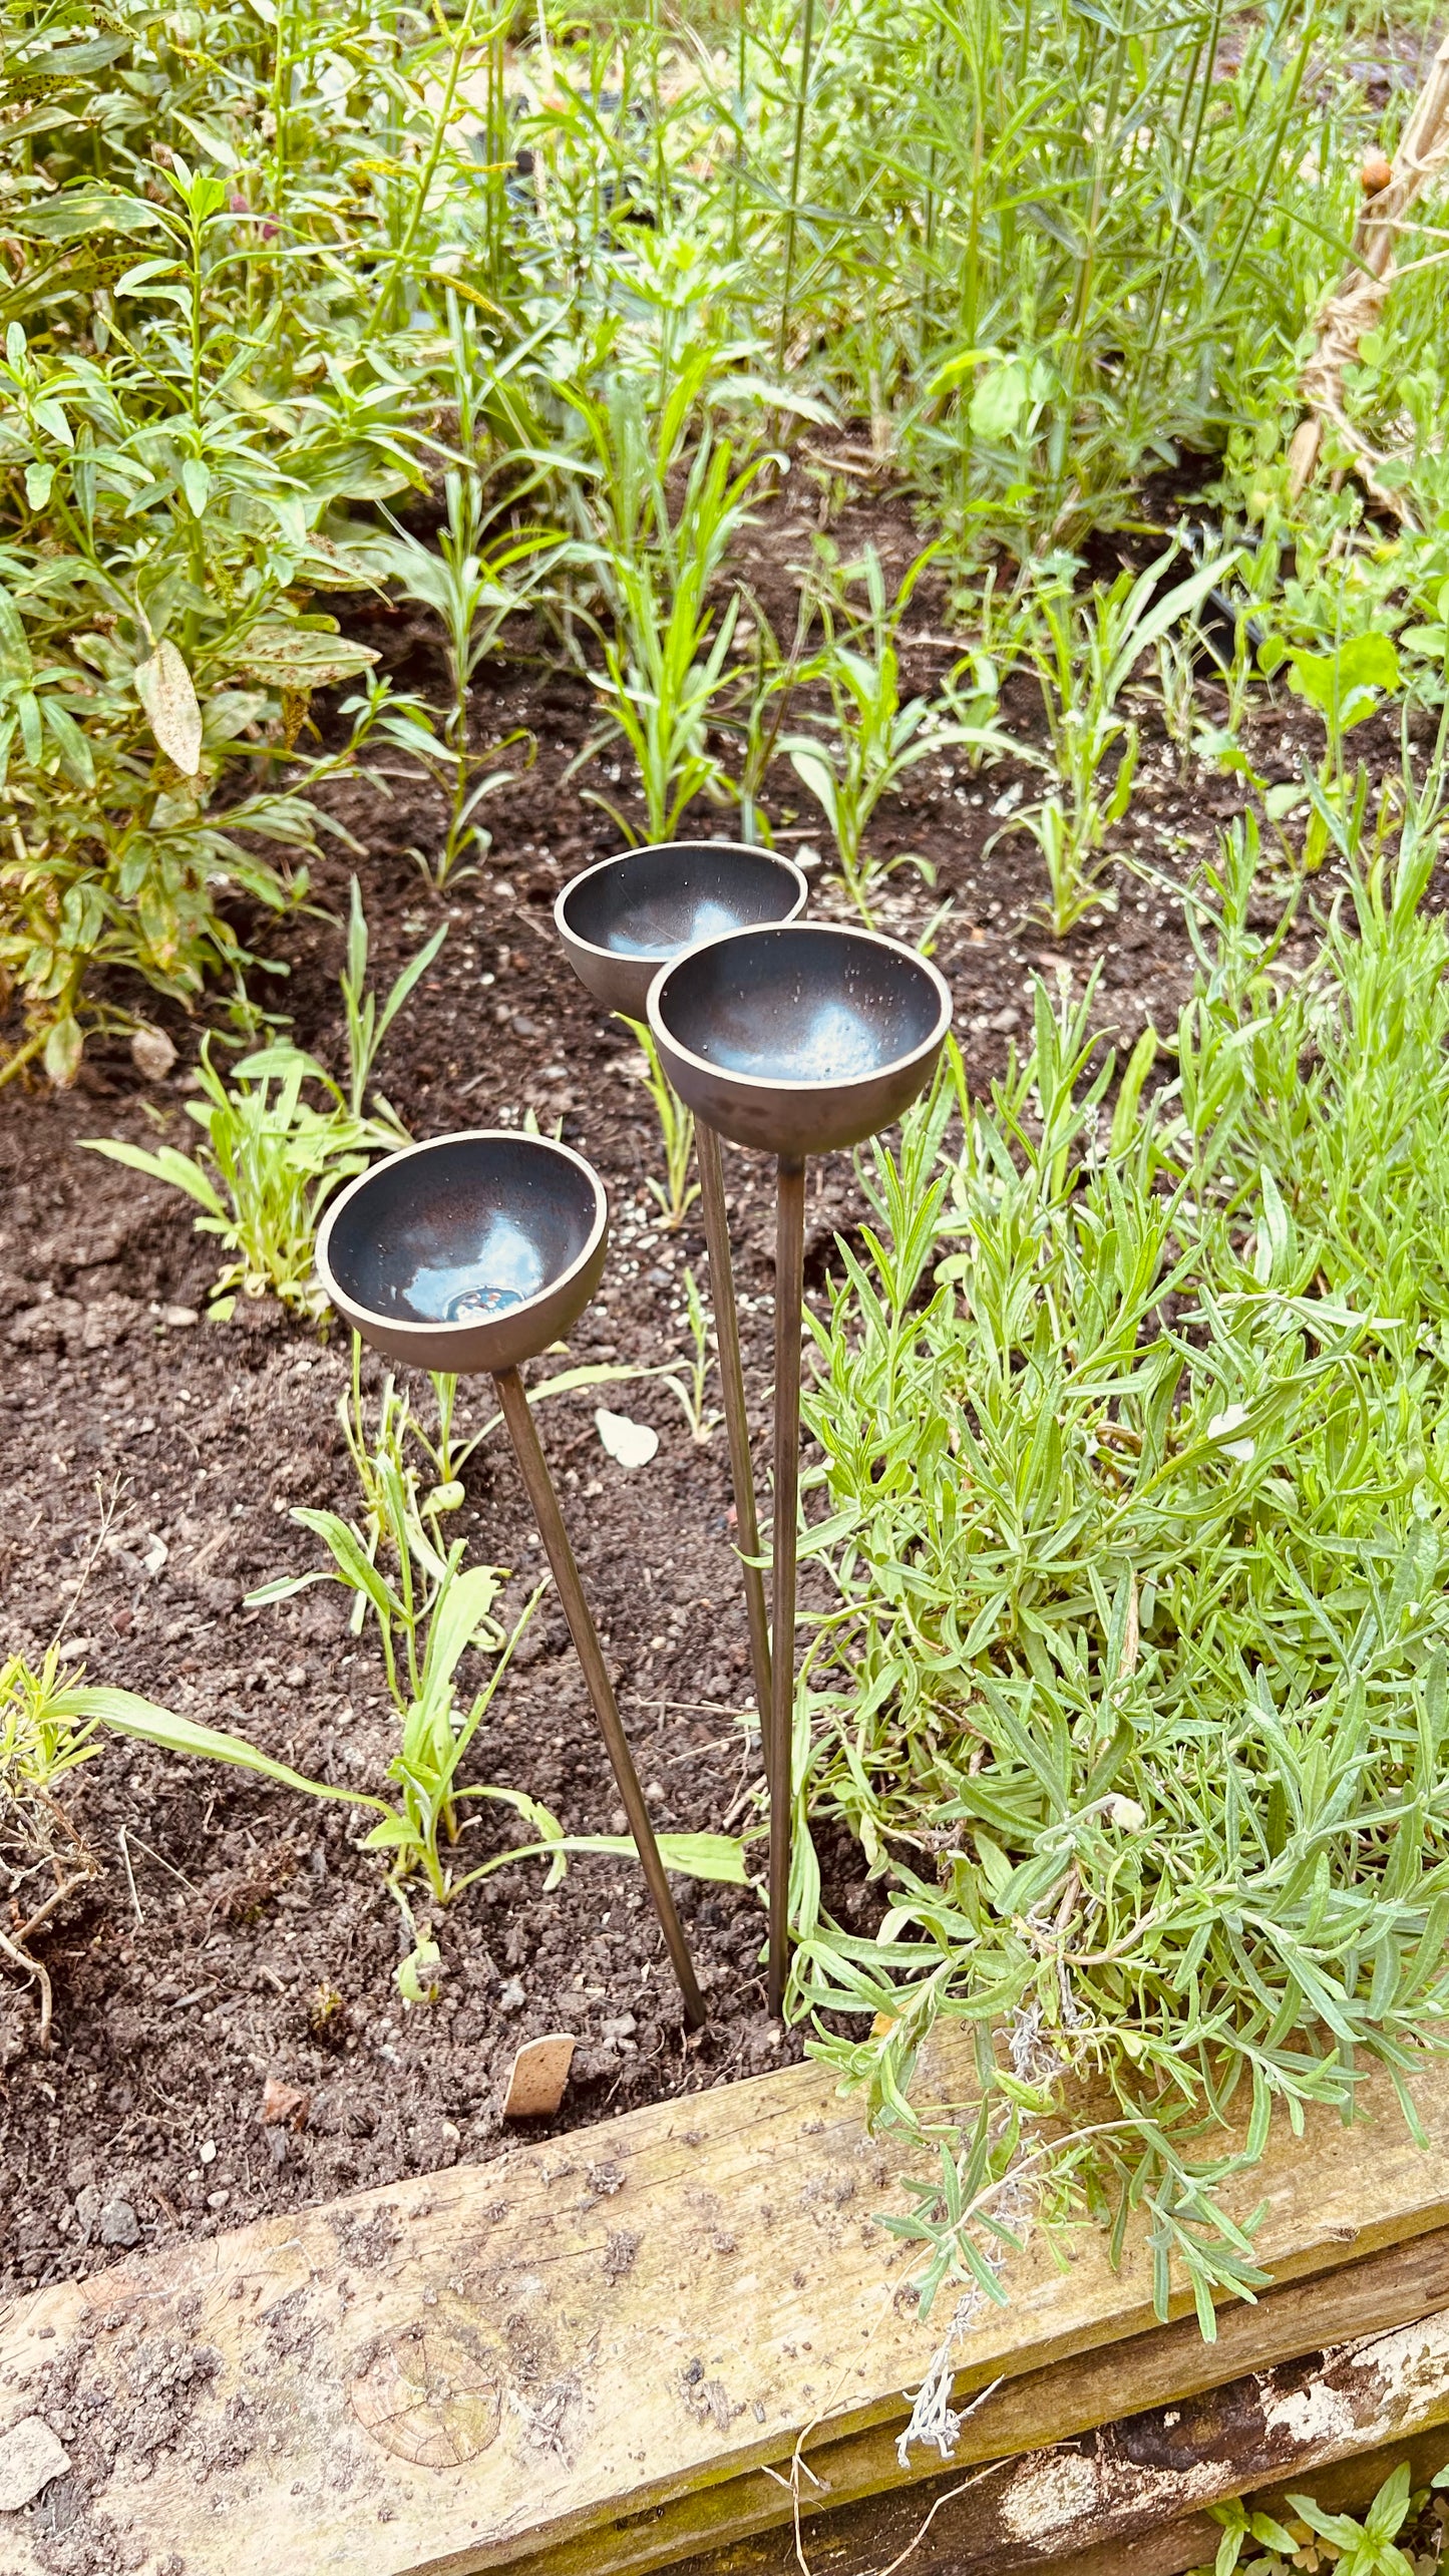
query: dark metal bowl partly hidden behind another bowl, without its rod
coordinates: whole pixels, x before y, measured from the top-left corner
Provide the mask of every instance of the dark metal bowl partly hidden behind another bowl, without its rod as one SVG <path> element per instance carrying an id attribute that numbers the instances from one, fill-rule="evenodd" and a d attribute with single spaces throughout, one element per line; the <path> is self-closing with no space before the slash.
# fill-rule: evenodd
<path id="1" fill-rule="evenodd" d="M 565 956 L 606 1010 L 645 1018 L 665 958 L 724 930 L 794 922 L 810 886 L 792 858 L 735 840 L 663 840 L 601 858 L 554 904 Z"/>

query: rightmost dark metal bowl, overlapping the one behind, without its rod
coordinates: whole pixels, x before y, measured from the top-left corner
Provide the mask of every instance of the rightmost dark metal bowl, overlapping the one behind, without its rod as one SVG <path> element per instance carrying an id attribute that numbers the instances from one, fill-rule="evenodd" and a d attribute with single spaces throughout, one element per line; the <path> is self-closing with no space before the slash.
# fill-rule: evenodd
<path id="1" fill-rule="evenodd" d="M 647 1010 L 681 1100 L 766 1154 L 825 1154 L 890 1126 L 951 1025 L 949 987 L 915 948 L 828 922 L 688 948 Z"/>

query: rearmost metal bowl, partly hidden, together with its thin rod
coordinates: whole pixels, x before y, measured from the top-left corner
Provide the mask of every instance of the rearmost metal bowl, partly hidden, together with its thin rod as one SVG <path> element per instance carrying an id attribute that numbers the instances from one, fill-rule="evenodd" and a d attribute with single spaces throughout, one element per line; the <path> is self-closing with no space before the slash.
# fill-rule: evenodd
<path id="1" fill-rule="evenodd" d="M 601 858 L 570 878 L 554 904 L 554 925 L 580 984 L 608 1010 L 642 1020 L 650 984 L 663 963 L 699 940 L 727 930 L 753 930 L 766 922 L 794 922 L 810 894 L 804 873 L 776 850 L 750 842 L 668 840 L 621 858 Z M 719 1337 L 719 1386 L 724 1396 L 724 1435 L 730 1443 L 730 1484 L 735 1489 L 735 1533 L 740 1584 L 750 1623 L 750 1674 L 761 1713 L 766 1772 L 771 1767 L 771 1631 L 766 1618 L 766 1579 L 753 1564 L 761 1553 L 755 1471 L 750 1461 L 750 1414 L 745 1409 L 745 1365 L 740 1358 L 740 1314 L 735 1267 L 730 1260 L 730 1216 L 724 1206 L 724 1162 L 719 1136 L 701 1118 L 694 1123 L 699 1162 L 699 1200 L 709 1249 L 709 1301 Z"/>

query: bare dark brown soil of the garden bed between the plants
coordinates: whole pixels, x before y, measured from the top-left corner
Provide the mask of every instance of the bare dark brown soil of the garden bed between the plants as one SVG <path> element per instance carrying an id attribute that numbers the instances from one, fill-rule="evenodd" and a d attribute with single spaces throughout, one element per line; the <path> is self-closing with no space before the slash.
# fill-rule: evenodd
<path id="1" fill-rule="evenodd" d="M 789 564 L 807 554 L 820 502 L 799 484 L 786 484 L 748 564 L 776 613 L 789 605 Z M 895 572 L 918 546 L 902 507 L 861 497 L 835 538 L 851 551 L 866 533 Z M 913 685 L 928 685 L 949 659 L 936 641 L 941 613 L 923 590 Z M 407 685 L 436 683 L 431 644 L 407 616 L 374 616 L 366 631 L 389 647 Z M 1013 683 L 1006 719 L 1024 739 L 1036 714 Z M 425 786 L 394 786 L 384 799 L 351 783 L 333 799 L 366 848 L 358 873 L 374 981 L 387 984 L 428 930 L 449 922 L 443 953 L 387 1046 L 382 1087 L 418 1136 L 495 1126 L 529 1108 L 544 1126 L 562 1118 L 614 1200 L 606 1285 L 572 1360 L 683 1360 L 683 1273 L 694 1267 L 704 1283 L 701 1236 L 694 1224 L 678 1236 L 655 1224 L 645 1177 L 660 1154 L 632 1079 L 632 1043 L 572 984 L 549 920 L 557 886 L 619 848 L 614 824 L 580 801 L 588 773 L 559 783 L 590 724 L 588 688 L 541 662 L 513 665 L 480 690 L 477 721 L 490 734 L 526 724 L 539 744 L 529 775 L 490 806 L 485 876 L 436 896 L 405 855 L 410 842 L 438 840 Z M 1261 757 L 1276 775 L 1294 775 L 1297 739 L 1310 739 L 1302 724 L 1266 708 L 1271 752 Z M 1382 752 L 1392 757 L 1387 739 Z M 982 850 L 1016 775 L 1011 765 L 972 775 L 957 757 L 931 762 L 874 835 L 882 855 L 910 848 L 938 871 L 933 894 L 910 871 L 895 876 L 882 927 L 918 935 L 931 907 L 954 896 L 936 956 L 957 992 L 977 1090 L 1026 1030 L 1036 974 L 1067 976 L 1080 992 L 1098 963 L 1096 1020 L 1124 1041 L 1147 1015 L 1171 1028 L 1191 979 L 1176 907 L 1122 871 L 1116 909 L 1083 922 L 1062 948 L 1049 940 L 1034 917 L 1044 889 L 1031 845 L 1006 837 Z M 1021 781 L 1031 793 L 1026 770 Z M 629 804 L 627 775 L 608 786 Z M 784 845 L 825 848 L 817 819 L 792 811 L 802 801 L 786 770 L 771 796 Z M 1183 873 L 1238 801 L 1235 781 L 1181 781 L 1176 755 L 1147 742 L 1137 848 Z M 699 827 L 730 824 L 706 814 Z M 327 866 L 315 889 L 333 914 L 345 912 L 345 858 Z M 817 907 L 843 909 L 828 871 Z M 1266 899 L 1266 917 L 1271 909 Z M 297 917 L 266 943 L 291 969 L 289 984 L 266 987 L 268 1007 L 286 1007 L 297 1036 L 340 1061 L 335 920 Z M 1289 963 L 1307 948 L 1305 922 Z M 382 1785 L 392 1718 L 374 1643 L 345 1633 L 340 1592 L 242 1605 L 268 1577 L 320 1564 L 320 1543 L 289 1507 L 356 1510 L 338 1427 L 348 1347 L 271 1303 L 242 1303 L 229 1327 L 196 1321 L 217 1262 L 186 1200 L 80 1149 L 95 1133 L 191 1141 L 183 1084 L 199 1028 L 175 1023 L 175 1036 L 183 1059 L 150 1090 L 116 1051 L 88 1064 L 67 1097 L 10 1090 L 0 1100 L 0 1643 L 39 1659 L 64 1631 L 70 1667 L 90 1680 L 245 1728 L 322 1777 Z M 727 1180 L 763 1443 L 768 1175 L 730 1154 Z M 822 1164 L 810 1188 L 810 1283 L 820 1296 L 835 1229 L 859 1218 L 861 1195 L 848 1157 Z M 366 1383 L 379 1383 L 371 1363 Z M 627 1473 L 606 1458 L 593 1430 L 598 1394 L 549 1404 L 541 1425 L 650 1803 L 660 1826 L 737 1829 L 755 1821 L 758 1734 L 724 1437 L 694 1443 L 657 1381 L 603 1399 L 657 1427 L 650 1468 Z M 482 1419 L 480 1406 L 464 1388 L 467 1422 Z M 541 1558 L 498 1437 L 474 1455 L 462 1525 L 477 1556 L 516 1569 L 511 1600 L 521 1600 Z M 621 1829 L 567 1633 L 547 1605 L 477 1739 L 472 1775 L 526 1788 L 567 1829 Z M 356 1811 L 111 1741 L 75 1777 L 72 1814 L 101 1875 L 36 1937 L 54 1984 L 49 2053 L 36 2048 L 34 1989 L 10 1968 L 0 1984 L 8 2285 L 85 2272 L 111 2246 L 214 2233 L 291 2200 L 487 2156 L 511 2056 L 544 2030 L 580 2038 L 559 2125 L 799 2050 L 799 2035 L 784 2040 L 763 2009 L 753 1891 L 681 1883 L 714 2014 L 699 2040 L 681 2032 L 637 1870 L 601 1857 L 575 1862 L 552 1893 L 541 1865 L 521 1862 L 431 1914 L 441 2002 L 407 2009 L 392 1981 L 400 1917 L 379 1865 L 356 1850 Z M 492 1821 L 477 1834 L 480 1850 L 508 1839 Z M 822 1868 L 833 1909 L 864 1924 L 871 1896 L 859 1855 L 825 1834 Z M 263 2125 L 268 2076 L 304 2099 L 289 2120 Z"/>

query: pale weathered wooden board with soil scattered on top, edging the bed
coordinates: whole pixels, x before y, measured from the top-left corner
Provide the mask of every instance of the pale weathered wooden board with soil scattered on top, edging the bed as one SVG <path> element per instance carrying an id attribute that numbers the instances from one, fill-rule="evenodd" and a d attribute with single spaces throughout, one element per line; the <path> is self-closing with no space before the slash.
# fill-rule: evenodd
<path id="1" fill-rule="evenodd" d="M 1415 2097 L 1428 2151 L 1377 2081 L 1354 2130 L 1274 2146 L 1240 2208 L 1276 2277 L 1449 2223 L 1449 2066 Z M 781 2519 L 797 2437 L 900 2427 L 946 2321 L 871 2223 L 897 2164 L 802 2066 L 36 2293 L 0 2313 L 0 2434 L 41 2414 L 75 2473 L 0 2517 L 0 2576 L 64 2514 L 137 2576 L 258 2548 L 266 2576 L 469 2576 L 583 2535 L 593 2571 L 657 2566 L 678 2499 L 686 2545 L 748 2527 L 740 2481 Z M 1140 2239 L 1116 2275 L 1093 2231 L 1065 2269 L 1031 2244 L 959 2388 L 1158 2331 Z"/>

